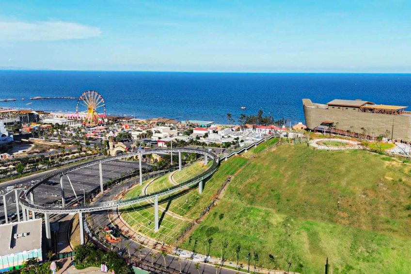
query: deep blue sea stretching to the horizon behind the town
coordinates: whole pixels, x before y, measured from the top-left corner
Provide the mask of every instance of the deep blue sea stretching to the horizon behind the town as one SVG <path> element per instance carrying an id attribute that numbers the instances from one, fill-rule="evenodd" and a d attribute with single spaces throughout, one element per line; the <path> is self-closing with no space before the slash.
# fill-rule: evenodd
<path id="1" fill-rule="evenodd" d="M 237 119 L 259 109 L 275 119 L 304 121 L 302 98 L 320 103 L 361 98 L 411 106 L 411 74 L 0 71 L 0 98 L 18 99 L 0 102 L 0 107 L 74 112 L 76 100 L 28 98 L 79 97 L 88 89 L 103 95 L 108 115 L 219 123 L 227 122 L 226 113 Z"/>

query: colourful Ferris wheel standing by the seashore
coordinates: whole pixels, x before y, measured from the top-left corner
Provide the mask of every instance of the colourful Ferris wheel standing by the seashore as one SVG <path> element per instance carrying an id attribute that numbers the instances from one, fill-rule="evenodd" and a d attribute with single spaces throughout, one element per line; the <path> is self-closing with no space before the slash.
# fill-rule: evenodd
<path id="1" fill-rule="evenodd" d="M 84 115 L 84 123 L 98 124 L 99 118 L 106 116 L 106 102 L 95 90 L 85 91 L 77 100 L 76 113 Z"/>

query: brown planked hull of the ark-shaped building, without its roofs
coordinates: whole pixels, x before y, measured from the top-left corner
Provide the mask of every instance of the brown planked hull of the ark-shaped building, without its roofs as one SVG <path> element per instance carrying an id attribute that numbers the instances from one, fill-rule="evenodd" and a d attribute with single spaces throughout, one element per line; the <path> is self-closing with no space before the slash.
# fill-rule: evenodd
<path id="1" fill-rule="evenodd" d="M 310 101 L 311 102 L 311 101 Z M 314 129 L 322 121 L 333 121 L 337 129 L 350 130 L 371 136 L 387 135 L 388 138 L 411 142 L 411 116 L 380 113 L 363 113 L 358 108 L 318 108 L 314 103 L 303 105 L 308 129 Z"/>

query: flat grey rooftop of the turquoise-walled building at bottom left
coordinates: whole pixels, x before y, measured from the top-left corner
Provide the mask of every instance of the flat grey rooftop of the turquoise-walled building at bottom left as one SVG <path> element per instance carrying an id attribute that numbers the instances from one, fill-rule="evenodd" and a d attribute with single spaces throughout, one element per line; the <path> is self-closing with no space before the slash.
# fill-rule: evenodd
<path id="1" fill-rule="evenodd" d="M 0 225 L 0 256 L 41 248 L 42 219 Z M 14 234 L 28 233 L 14 239 Z"/>

